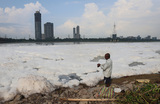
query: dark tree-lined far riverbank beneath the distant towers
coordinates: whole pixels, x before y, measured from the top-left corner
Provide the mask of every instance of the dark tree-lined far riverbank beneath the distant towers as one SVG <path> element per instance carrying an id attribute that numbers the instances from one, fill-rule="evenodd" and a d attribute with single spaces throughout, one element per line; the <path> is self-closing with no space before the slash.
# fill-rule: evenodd
<path id="1" fill-rule="evenodd" d="M 137 39 L 137 38 L 56 38 L 56 39 L 12 39 L 12 38 L 1 38 L 0 43 L 32 43 L 32 42 L 160 42 L 160 39 Z"/>

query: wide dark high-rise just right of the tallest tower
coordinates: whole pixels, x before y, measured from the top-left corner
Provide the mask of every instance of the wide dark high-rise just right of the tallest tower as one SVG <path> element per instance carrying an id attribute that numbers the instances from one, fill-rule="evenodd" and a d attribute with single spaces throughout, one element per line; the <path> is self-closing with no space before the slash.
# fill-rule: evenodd
<path id="1" fill-rule="evenodd" d="M 54 38 L 54 29 L 53 23 L 47 22 L 44 24 L 44 34 L 45 39 L 53 39 Z"/>

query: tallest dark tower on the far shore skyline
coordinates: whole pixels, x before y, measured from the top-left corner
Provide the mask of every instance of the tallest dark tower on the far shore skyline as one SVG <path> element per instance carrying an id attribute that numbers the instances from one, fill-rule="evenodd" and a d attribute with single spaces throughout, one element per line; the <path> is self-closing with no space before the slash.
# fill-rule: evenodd
<path id="1" fill-rule="evenodd" d="M 41 31 L 41 13 L 40 11 L 36 11 L 34 13 L 35 19 L 35 39 L 41 40 L 42 39 L 42 31 Z"/>

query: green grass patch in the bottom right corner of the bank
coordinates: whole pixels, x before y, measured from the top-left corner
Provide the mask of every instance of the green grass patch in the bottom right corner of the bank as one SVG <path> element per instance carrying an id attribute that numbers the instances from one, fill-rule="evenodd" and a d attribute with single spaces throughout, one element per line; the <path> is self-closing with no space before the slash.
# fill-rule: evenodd
<path id="1" fill-rule="evenodd" d="M 160 86 L 151 83 L 136 85 L 117 98 L 117 103 L 122 104 L 160 104 Z"/>

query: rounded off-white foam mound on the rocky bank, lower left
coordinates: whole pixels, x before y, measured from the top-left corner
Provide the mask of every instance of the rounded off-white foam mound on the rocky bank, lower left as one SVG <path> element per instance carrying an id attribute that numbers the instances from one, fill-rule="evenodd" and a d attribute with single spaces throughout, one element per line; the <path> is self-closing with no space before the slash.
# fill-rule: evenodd
<path id="1" fill-rule="evenodd" d="M 18 80 L 17 90 L 24 96 L 33 93 L 47 93 L 54 90 L 53 85 L 42 76 L 28 75 Z"/>

